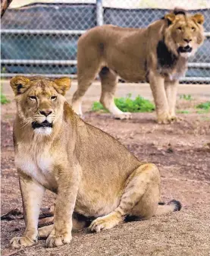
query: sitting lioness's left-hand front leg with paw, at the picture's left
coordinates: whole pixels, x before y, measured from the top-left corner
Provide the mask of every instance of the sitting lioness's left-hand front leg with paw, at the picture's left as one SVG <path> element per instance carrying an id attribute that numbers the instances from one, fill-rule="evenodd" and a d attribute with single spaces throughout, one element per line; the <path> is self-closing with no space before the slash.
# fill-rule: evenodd
<path id="1" fill-rule="evenodd" d="M 20 191 L 23 199 L 26 230 L 24 236 L 11 239 L 10 243 L 13 248 L 36 244 L 38 240 L 39 210 L 45 188 L 33 182 L 27 175 L 20 175 Z"/>

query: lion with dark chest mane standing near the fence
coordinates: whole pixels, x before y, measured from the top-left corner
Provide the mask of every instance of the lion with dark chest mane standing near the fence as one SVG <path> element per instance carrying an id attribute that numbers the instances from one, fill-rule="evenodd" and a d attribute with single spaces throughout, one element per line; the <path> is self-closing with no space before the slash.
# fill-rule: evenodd
<path id="1" fill-rule="evenodd" d="M 177 84 L 186 72 L 188 57 L 203 43 L 203 22 L 202 14 L 175 9 L 143 29 L 104 25 L 87 31 L 78 40 L 74 111 L 82 115 L 82 97 L 99 73 L 100 102 L 116 118 L 130 118 L 129 112 L 121 112 L 114 104 L 119 76 L 125 81 L 149 81 L 158 123 L 176 119 Z"/>

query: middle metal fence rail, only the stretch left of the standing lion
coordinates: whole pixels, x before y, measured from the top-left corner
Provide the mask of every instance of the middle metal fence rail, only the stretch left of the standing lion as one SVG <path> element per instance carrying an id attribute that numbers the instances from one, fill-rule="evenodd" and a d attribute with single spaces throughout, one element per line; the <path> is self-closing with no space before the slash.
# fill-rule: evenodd
<path id="1" fill-rule="evenodd" d="M 2 64 L 31 64 L 31 65 L 77 65 L 76 60 L 49 60 L 49 59 L 1 59 Z"/>

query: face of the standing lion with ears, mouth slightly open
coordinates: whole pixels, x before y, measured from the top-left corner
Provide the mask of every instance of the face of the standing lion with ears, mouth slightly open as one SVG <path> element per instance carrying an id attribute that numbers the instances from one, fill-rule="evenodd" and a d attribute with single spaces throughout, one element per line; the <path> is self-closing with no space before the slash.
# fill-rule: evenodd
<path id="1" fill-rule="evenodd" d="M 204 40 L 202 14 L 188 16 L 187 14 L 166 14 L 165 19 L 169 21 L 165 30 L 165 43 L 175 55 L 184 58 L 193 55 Z"/>

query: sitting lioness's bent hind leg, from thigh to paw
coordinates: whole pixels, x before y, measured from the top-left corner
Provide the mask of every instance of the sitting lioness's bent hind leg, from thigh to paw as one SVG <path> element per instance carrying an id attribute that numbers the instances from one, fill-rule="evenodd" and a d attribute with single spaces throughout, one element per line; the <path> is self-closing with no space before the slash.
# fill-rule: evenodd
<path id="1" fill-rule="evenodd" d="M 158 207 L 159 185 L 160 175 L 155 165 L 148 163 L 139 166 L 127 179 L 118 208 L 94 220 L 89 228 L 100 232 L 118 225 L 127 215 L 141 216 L 143 219 L 154 216 Z"/>

